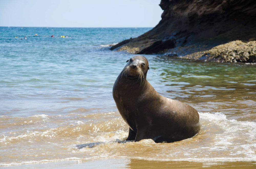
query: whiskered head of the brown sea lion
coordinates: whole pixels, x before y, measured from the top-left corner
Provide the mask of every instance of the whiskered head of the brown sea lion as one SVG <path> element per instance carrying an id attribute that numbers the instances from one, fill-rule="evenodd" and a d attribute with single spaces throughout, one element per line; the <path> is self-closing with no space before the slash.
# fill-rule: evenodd
<path id="1" fill-rule="evenodd" d="M 138 77 L 141 81 L 146 79 L 149 70 L 148 61 L 144 56 L 136 55 L 126 61 L 127 64 L 123 69 L 122 75 L 126 77 Z"/>

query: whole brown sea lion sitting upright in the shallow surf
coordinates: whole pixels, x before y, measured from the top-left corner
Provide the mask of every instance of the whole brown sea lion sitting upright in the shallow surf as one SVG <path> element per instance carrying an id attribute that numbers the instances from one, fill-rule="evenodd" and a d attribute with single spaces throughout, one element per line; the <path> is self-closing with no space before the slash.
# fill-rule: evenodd
<path id="1" fill-rule="evenodd" d="M 200 130 L 198 112 L 191 106 L 158 94 L 146 80 L 144 56 L 131 57 L 113 86 L 113 98 L 129 125 L 128 140 L 153 139 L 174 142 L 195 136 Z"/>

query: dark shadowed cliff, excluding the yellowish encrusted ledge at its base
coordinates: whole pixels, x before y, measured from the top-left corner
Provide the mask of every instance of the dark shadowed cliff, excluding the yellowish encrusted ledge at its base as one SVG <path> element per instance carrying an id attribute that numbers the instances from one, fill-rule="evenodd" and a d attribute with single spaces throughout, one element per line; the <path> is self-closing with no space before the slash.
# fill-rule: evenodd
<path id="1" fill-rule="evenodd" d="M 152 30 L 124 40 L 111 50 L 152 54 L 205 45 L 205 49 L 189 47 L 192 50 L 184 53 L 187 55 L 233 40 L 248 42 L 256 38 L 255 0 L 162 0 L 159 6 L 164 10 L 162 20 Z"/>

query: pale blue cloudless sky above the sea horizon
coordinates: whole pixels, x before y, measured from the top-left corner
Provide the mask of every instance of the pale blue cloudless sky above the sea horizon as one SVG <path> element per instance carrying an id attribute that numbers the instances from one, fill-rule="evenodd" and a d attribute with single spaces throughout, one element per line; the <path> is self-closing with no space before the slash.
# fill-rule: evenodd
<path id="1" fill-rule="evenodd" d="M 0 0 L 0 26 L 154 27 L 160 0 Z"/>

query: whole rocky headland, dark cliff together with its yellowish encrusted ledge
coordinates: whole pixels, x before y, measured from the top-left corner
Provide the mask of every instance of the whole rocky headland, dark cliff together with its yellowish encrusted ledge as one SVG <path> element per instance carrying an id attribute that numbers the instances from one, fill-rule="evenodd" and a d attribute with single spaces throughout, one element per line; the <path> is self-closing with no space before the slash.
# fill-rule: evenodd
<path id="1" fill-rule="evenodd" d="M 255 1 L 164 1 L 161 20 L 148 32 L 112 46 L 133 54 L 175 52 L 189 60 L 256 63 Z M 205 46 L 202 48 L 202 46 Z M 183 51 L 179 50 L 191 50 Z"/>

